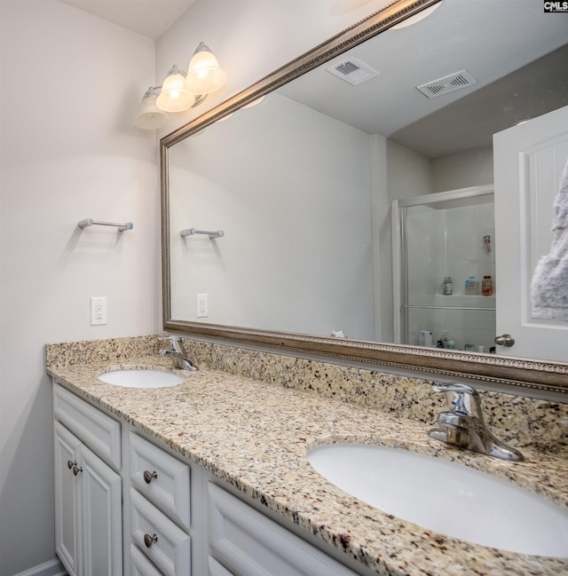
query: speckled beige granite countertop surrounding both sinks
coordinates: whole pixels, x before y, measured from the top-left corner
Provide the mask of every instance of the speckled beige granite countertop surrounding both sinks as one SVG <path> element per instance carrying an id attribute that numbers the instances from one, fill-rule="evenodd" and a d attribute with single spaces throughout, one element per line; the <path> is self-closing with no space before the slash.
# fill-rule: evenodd
<path id="1" fill-rule="evenodd" d="M 169 359 L 146 356 L 122 363 L 48 366 L 48 373 L 377 573 L 568 573 L 568 559 L 484 548 L 390 517 L 320 477 L 306 450 L 331 441 L 407 447 L 509 478 L 564 508 L 568 461 L 524 450 L 529 462 L 512 464 L 448 450 L 428 438 L 430 426 L 422 423 L 214 370 L 202 369 L 185 383 L 162 389 L 122 388 L 96 378 L 112 367 L 169 366 Z"/>

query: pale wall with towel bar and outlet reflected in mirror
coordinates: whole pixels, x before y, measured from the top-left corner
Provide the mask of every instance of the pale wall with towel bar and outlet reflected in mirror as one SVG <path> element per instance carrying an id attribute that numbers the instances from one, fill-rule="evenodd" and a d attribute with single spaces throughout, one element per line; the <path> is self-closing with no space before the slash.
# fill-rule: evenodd
<path id="1" fill-rule="evenodd" d="M 374 339 L 369 146 L 276 93 L 173 146 L 173 318 Z"/>

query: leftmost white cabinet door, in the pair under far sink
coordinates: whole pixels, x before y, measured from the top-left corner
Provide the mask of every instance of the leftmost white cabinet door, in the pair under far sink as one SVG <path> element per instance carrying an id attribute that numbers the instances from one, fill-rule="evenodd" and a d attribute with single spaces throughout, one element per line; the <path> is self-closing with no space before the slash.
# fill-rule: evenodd
<path id="1" fill-rule="evenodd" d="M 70 576 L 77 576 L 81 572 L 81 490 L 73 468 L 81 460 L 81 442 L 59 422 L 54 423 L 54 433 L 55 550 Z"/>

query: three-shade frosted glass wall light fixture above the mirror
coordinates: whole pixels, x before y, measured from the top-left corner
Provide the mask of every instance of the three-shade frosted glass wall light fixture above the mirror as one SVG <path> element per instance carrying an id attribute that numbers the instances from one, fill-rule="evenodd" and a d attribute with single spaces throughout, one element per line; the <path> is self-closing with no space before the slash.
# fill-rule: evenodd
<path id="1" fill-rule="evenodd" d="M 201 42 L 187 73 L 174 64 L 162 86 L 148 88 L 134 123 L 147 130 L 161 128 L 168 122 L 168 112 L 183 112 L 201 104 L 208 94 L 225 85 L 226 77 L 209 46 Z"/>

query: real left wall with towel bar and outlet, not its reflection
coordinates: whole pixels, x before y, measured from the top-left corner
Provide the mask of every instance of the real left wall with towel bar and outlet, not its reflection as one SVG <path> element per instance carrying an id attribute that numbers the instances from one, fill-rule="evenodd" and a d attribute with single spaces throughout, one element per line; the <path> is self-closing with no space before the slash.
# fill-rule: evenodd
<path id="1" fill-rule="evenodd" d="M 132 127 L 154 43 L 57 0 L 2 0 L 0 574 L 54 556 L 43 344 L 153 333 L 153 134 Z M 134 223 L 76 227 L 85 217 Z M 108 324 L 91 327 L 91 296 Z"/>

